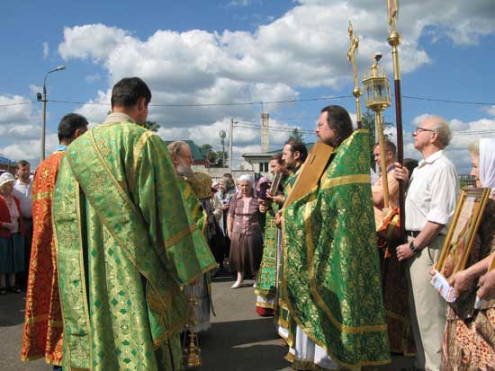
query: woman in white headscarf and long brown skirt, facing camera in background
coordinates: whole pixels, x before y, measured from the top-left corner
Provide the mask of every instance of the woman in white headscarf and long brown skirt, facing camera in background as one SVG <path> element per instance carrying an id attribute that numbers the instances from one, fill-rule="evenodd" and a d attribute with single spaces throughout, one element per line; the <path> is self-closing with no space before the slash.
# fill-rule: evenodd
<path id="1" fill-rule="evenodd" d="M 230 238 L 230 271 L 237 272 L 238 278 L 232 288 L 242 286 L 244 276 L 252 275 L 256 282 L 261 264 L 263 239 L 259 223 L 259 201 L 254 190 L 252 175 L 238 179 L 238 193 L 230 200 L 227 230 Z"/>

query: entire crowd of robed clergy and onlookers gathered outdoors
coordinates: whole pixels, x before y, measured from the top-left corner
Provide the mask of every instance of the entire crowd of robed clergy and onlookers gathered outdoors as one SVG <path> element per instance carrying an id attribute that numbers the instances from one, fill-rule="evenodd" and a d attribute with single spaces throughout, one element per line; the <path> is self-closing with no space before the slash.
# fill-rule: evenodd
<path id="1" fill-rule="evenodd" d="M 181 369 L 180 334 L 210 328 L 211 278 L 228 270 L 232 289 L 253 278 L 257 314 L 274 316 L 293 369 L 378 367 L 391 351 L 415 354 L 419 369 L 495 369 L 495 140 L 470 149 L 476 186 L 491 197 L 447 305 L 430 284 L 459 194 L 445 119 L 415 130 L 419 163 L 396 162 L 390 141 L 384 157 L 375 145 L 386 174 L 372 184 L 367 132 L 325 107 L 315 132 L 331 154 L 317 168 L 304 144 L 287 142 L 269 163 L 280 184 L 267 191 L 266 178 L 213 184 L 193 172 L 187 143 L 166 146 L 140 127 L 150 101 L 147 84 L 124 78 L 102 124 L 61 119 L 58 150 L 32 181 L 25 162 L 17 181 L 0 175 L 0 295 L 27 287 L 23 360 Z M 393 243 L 377 231 L 397 227 L 400 182 L 407 242 Z"/>

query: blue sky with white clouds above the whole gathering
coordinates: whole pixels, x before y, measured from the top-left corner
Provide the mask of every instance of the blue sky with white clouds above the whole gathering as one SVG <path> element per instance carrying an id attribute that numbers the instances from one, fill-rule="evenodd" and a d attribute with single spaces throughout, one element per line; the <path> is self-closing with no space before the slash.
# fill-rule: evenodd
<path id="1" fill-rule="evenodd" d="M 403 4 L 402 4 L 403 3 Z M 416 3 L 416 2 L 414 2 Z M 439 114 L 455 136 L 447 154 L 459 172 L 469 171 L 465 148 L 479 137 L 495 137 L 495 3 L 492 0 L 401 2 L 398 31 L 406 133 L 425 114 Z M 101 122 L 109 89 L 126 75 L 150 85 L 149 119 L 167 140 L 193 139 L 220 146 L 218 132 L 229 120 L 257 126 L 261 104 L 170 107 L 166 104 L 275 102 L 350 96 L 347 22 L 360 37 L 360 79 L 374 51 L 392 78 L 385 0 L 225 1 L 34 1 L 0 3 L 0 153 L 36 164 L 40 157 L 41 104 L 49 75 L 47 153 L 57 145 L 58 120 L 67 112 Z M 431 98 L 462 104 L 407 98 Z M 18 105 L 17 103 L 31 102 Z M 81 103 L 76 103 L 81 102 Z M 90 104 L 87 104 L 90 103 Z M 92 104 L 97 103 L 97 104 Z M 264 104 L 270 113 L 271 149 L 290 128 L 311 130 L 320 109 L 353 98 Z M 364 102 L 362 102 L 364 106 Z M 385 119 L 394 121 L 391 107 Z M 286 129 L 280 129 L 286 128 Z M 306 135 L 309 142 L 313 135 Z M 406 155 L 419 158 L 406 136 Z M 260 150 L 256 128 L 234 130 L 235 164 Z"/>

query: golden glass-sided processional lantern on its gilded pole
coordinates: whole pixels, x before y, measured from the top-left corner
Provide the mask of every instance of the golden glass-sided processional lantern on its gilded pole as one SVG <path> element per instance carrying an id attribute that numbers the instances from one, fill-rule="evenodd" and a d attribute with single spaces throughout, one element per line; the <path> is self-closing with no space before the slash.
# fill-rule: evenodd
<path id="1" fill-rule="evenodd" d="M 365 102 L 366 108 L 374 110 L 376 121 L 376 137 L 380 145 L 380 162 L 383 180 L 383 207 L 389 208 L 389 189 L 387 180 L 387 164 L 385 157 L 385 137 L 383 135 L 383 117 L 382 111 L 391 105 L 391 87 L 387 75 L 383 72 L 378 73 L 378 65 L 382 59 L 382 53 L 374 53 L 374 63 L 371 66 L 371 75 L 365 76 L 363 84 L 365 85 Z"/>

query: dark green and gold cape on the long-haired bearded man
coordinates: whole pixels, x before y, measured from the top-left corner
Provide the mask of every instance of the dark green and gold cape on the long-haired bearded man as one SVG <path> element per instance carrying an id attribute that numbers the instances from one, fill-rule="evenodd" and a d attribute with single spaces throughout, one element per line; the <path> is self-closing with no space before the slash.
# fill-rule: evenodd
<path id="1" fill-rule="evenodd" d="M 366 130 L 284 209 L 283 296 L 302 331 L 342 367 L 390 363 Z"/>

